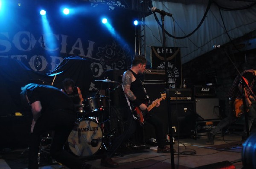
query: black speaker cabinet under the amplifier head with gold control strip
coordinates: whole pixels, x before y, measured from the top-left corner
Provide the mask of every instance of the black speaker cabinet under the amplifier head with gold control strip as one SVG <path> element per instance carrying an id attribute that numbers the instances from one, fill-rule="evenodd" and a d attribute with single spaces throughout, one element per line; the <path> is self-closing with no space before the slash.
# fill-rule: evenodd
<path id="1" fill-rule="evenodd" d="M 178 138 L 190 137 L 195 131 L 197 115 L 195 101 L 171 101 L 173 136 Z"/>

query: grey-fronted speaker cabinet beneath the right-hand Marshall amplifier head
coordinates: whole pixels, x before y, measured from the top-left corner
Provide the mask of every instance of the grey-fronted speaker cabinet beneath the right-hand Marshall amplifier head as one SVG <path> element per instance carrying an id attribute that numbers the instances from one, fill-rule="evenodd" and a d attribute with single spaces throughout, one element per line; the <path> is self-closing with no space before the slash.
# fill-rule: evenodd
<path id="1" fill-rule="evenodd" d="M 219 119 L 218 98 L 196 98 L 195 110 L 199 120 Z"/>

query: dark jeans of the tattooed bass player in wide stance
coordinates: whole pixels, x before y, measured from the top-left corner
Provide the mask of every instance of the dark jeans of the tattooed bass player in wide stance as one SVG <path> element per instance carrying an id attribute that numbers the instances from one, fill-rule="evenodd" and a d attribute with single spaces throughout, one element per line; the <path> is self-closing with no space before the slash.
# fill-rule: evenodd
<path id="1" fill-rule="evenodd" d="M 122 142 L 131 138 L 137 129 L 137 123 L 139 123 L 139 121 L 133 118 L 132 113 L 130 111 L 126 111 L 125 116 L 125 132 L 113 140 L 112 146 L 106 152 L 107 157 L 111 157 L 116 149 L 118 149 L 118 147 L 122 144 Z M 160 148 L 163 148 L 165 146 L 165 135 L 163 133 L 162 121 L 160 121 L 156 114 L 152 114 L 150 117 L 146 118 L 145 121 L 146 123 L 152 124 L 154 126 L 155 134 L 157 137 L 157 145 Z"/>

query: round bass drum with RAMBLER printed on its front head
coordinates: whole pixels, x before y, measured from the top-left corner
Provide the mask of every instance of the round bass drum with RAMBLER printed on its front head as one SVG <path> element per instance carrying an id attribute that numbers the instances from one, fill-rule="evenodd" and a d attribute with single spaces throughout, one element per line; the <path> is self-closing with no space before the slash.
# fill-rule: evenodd
<path id="1" fill-rule="evenodd" d="M 102 130 L 92 120 L 77 121 L 68 137 L 70 150 L 79 157 L 96 153 L 102 145 Z"/>

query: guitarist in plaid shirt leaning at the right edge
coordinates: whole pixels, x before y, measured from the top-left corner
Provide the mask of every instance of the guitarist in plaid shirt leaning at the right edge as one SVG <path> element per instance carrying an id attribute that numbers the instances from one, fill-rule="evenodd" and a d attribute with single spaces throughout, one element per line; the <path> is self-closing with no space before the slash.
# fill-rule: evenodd
<path id="1" fill-rule="evenodd" d="M 253 91 L 253 93 L 255 93 L 255 89 L 254 89 L 254 85 L 255 81 L 256 81 L 256 70 L 244 70 L 241 75 L 244 77 L 244 80 L 248 83 L 250 89 Z M 238 100 L 242 100 L 243 99 L 243 94 L 242 92 L 244 91 L 241 87 L 241 76 L 238 75 L 236 76 L 236 79 L 234 80 L 229 92 L 227 93 L 227 96 L 229 98 L 232 98 L 230 100 L 230 106 L 232 106 L 232 109 L 234 109 L 233 104 L 234 101 L 238 101 Z M 253 98 L 253 96 L 250 93 L 250 90 L 248 89 L 247 85 L 245 85 L 245 101 L 246 101 L 246 106 L 248 107 L 247 110 L 247 115 L 248 115 L 248 127 L 249 130 L 253 124 L 253 121 L 256 119 L 256 101 L 255 98 Z M 236 102 L 235 102 L 236 103 Z M 243 111 L 243 107 L 240 107 L 241 109 L 241 113 L 244 113 Z M 214 145 L 214 138 L 215 135 L 221 131 L 224 127 L 230 125 L 231 123 L 233 123 L 234 121 L 237 120 L 237 117 L 239 117 L 239 115 L 236 115 L 236 111 L 233 110 L 229 113 L 229 115 L 222 119 L 218 125 L 212 129 L 210 132 L 207 133 L 207 144 L 210 145 Z M 244 132 L 242 134 L 242 141 L 245 141 L 247 139 L 247 132 L 246 132 L 246 125 L 244 125 Z"/>

